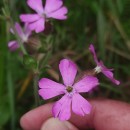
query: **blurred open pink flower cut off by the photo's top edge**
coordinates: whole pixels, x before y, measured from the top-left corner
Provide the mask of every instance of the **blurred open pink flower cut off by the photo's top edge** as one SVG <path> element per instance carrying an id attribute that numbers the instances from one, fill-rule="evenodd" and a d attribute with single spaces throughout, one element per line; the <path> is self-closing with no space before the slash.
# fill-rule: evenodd
<path id="1" fill-rule="evenodd" d="M 29 23 L 29 28 L 35 30 L 36 33 L 45 29 L 45 22 L 49 18 L 64 20 L 67 18 L 67 8 L 63 6 L 62 0 L 46 0 L 43 7 L 42 0 L 28 0 L 27 4 L 36 11 L 35 14 L 23 14 L 20 19 Z"/>

